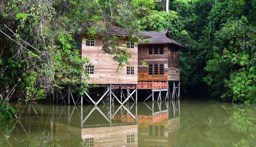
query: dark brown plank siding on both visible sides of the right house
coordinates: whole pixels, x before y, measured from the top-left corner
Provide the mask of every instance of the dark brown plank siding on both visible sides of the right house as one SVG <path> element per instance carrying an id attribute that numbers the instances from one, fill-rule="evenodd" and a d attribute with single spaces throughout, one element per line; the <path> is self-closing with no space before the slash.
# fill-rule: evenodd
<path id="1" fill-rule="evenodd" d="M 154 46 L 154 44 L 153 44 Z M 179 49 L 170 45 L 171 52 L 168 53 L 168 44 L 164 44 L 164 54 L 163 55 L 149 55 L 148 54 L 148 44 L 143 44 L 138 46 L 138 81 L 139 82 L 150 82 L 150 81 L 180 81 L 179 74 L 179 54 L 174 58 L 174 52 L 179 52 Z M 142 65 L 141 61 L 145 61 L 147 65 L 149 64 L 164 64 L 164 75 L 149 75 L 148 67 Z M 168 67 L 171 68 L 171 74 L 168 74 Z"/>

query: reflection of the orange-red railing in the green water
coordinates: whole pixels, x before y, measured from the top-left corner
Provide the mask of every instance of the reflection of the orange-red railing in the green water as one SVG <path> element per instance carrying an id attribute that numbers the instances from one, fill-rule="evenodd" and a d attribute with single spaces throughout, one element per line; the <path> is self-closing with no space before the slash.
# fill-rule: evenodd
<path id="1" fill-rule="evenodd" d="M 112 119 L 120 120 L 122 117 L 122 122 L 135 122 L 135 119 L 131 115 L 116 115 Z M 168 113 L 162 113 L 155 116 L 146 116 L 146 115 L 138 115 L 137 122 L 138 123 L 154 123 L 164 119 L 168 119 Z"/>

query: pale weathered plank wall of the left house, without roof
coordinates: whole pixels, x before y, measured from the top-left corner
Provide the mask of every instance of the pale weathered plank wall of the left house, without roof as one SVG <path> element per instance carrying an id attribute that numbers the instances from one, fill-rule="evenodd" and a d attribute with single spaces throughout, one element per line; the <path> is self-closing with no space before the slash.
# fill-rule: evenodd
<path id="1" fill-rule="evenodd" d="M 126 49 L 127 37 L 118 41 L 119 45 Z M 91 74 L 89 84 L 137 84 L 138 74 L 138 45 L 134 44 L 133 58 L 129 59 L 131 66 L 134 66 L 134 75 L 127 75 L 127 64 L 120 72 L 117 72 L 118 63 L 112 60 L 112 55 L 104 54 L 101 49 L 103 42 L 95 38 L 94 46 L 86 46 L 86 37 L 82 40 L 82 56 L 89 57 L 94 65 L 94 74 Z M 95 63 L 98 60 L 98 63 Z"/>

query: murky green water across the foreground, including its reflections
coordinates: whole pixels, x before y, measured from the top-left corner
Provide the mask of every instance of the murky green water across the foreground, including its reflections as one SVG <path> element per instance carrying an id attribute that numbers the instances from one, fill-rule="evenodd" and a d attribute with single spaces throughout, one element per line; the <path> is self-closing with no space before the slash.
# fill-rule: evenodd
<path id="1" fill-rule="evenodd" d="M 243 104 L 169 100 L 17 107 L 19 119 L 0 124 L 0 146 L 256 146 L 256 107 Z"/>

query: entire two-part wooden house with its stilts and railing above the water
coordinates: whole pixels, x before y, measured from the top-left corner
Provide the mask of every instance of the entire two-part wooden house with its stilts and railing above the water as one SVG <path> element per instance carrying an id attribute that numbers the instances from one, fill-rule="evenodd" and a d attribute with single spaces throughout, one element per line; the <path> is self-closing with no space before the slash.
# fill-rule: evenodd
<path id="1" fill-rule="evenodd" d="M 95 32 L 96 35 L 94 36 L 90 34 L 83 36 L 82 56 L 90 58 L 92 62 L 92 65 L 85 65 L 91 77 L 88 81 L 89 84 L 91 86 L 105 86 L 108 89 L 105 89 L 105 93 L 100 98 L 94 97 L 94 100 L 85 92 L 94 105 L 97 105 L 107 95 L 109 95 L 107 99 L 109 104 L 114 98 L 121 105 L 129 99 L 137 102 L 137 89 L 152 89 L 152 101 L 155 101 L 154 91 L 159 91 L 158 101 L 161 101 L 162 98 L 168 99 L 169 95 L 171 96 L 168 81 L 180 81 L 179 49 L 185 47 L 173 41 L 168 31 L 141 32 L 140 37 L 143 39 L 139 40 L 139 45 L 128 40 L 129 30 L 126 28 L 111 27 L 107 31 L 98 28 Z M 129 59 L 130 65 L 124 63 L 124 68 L 117 70 L 119 64 L 113 60 L 115 55 L 106 54 L 102 51 L 103 34 L 118 37 L 119 46 L 124 50 L 133 52 L 133 57 Z M 143 66 L 142 62 L 146 62 L 147 66 Z M 175 83 L 173 85 L 175 87 Z M 123 93 L 122 88 L 127 89 L 127 93 Z M 119 100 L 117 95 L 113 93 L 115 89 L 121 89 L 119 92 L 114 92 L 121 96 Z M 133 89 L 131 93 L 130 89 Z M 166 91 L 166 95 L 163 96 L 161 91 Z M 172 98 L 175 97 L 175 92 L 176 88 L 173 88 Z M 135 94 L 135 99 L 133 94 Z M 124 95 L 127 97 L 122 101 Z M 176 97 L 179 97 L 179 94 L 176 94 Z"/>

